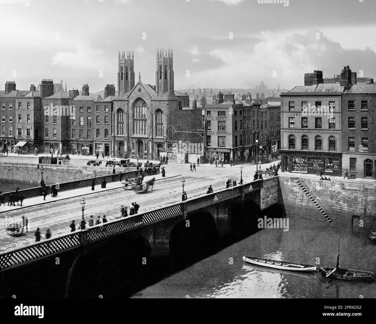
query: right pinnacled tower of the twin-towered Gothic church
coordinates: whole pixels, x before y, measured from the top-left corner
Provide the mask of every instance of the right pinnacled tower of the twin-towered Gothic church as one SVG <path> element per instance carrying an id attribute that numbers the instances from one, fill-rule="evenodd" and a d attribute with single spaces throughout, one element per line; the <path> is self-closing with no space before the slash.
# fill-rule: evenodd
<path id="1" fill-rule="evenodd" d="M 155 73 L 155 91 L 158 95 L 174 94 L 174 71 L 172 49 L 164 53 L 157 49 L 157 71 Z"/>

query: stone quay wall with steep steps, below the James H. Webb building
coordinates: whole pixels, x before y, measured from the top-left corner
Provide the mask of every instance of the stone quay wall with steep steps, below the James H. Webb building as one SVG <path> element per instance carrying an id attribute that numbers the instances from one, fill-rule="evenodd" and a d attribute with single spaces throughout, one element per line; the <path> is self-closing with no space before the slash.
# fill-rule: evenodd
<path id="1" fill-rule="evenodd" d="M 352 215 L 359 216 L 364 221 L 364 226 L 371 228 L 376 221 L 376 183 L 371 181 L 361 181 L 356 179 L 332 181 L 318 180 L 311 176 L 291 176 L 279 175 L 279 186 L 282 193 L 282 202 L 285 205 L 287 215 L 289 211 L 297 208 L 303 211 L 302 217 L 318 218 L 325 221 L 320 211 L 302 188 L 297 184 L 299 180 L 302 185 L 309 190 L 308 186 L 320 198 L 318 204 L 325 211 L 329 210 L 335 217 L 333 223 L 337 221 L 351 225 Z M 304 180 L 305 183 L 302 181 Z M 308 186 L 306 186 L 308 184 Z M 311 192 L 311 190 L 310 190 Z M 315 195 L 312 194 L 314 198 Z M 327 208 L 325 208 L 325 205 Z M 302 208 L 304 207 L 304 208 Z M 331 217 L 330 213 L 327 213 Z"/>

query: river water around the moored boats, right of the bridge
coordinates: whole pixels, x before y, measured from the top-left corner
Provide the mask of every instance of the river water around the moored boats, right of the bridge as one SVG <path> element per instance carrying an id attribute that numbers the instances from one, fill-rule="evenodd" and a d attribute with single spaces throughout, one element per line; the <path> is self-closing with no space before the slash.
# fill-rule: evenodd
<path id="1" fill-rule="evenodd" d="M 243 263 L 243 255 L 376 272 L 366 228 L 289 216 L 289 230 L 262 229 L 133 295 L 133 298 L 375 298 L 376 283 L 329 280 Z"/>

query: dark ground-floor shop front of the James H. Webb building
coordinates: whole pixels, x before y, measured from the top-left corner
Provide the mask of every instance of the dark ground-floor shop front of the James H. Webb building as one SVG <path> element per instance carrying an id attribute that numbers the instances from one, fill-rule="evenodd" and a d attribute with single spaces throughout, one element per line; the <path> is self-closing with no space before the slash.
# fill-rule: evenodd
<path id="1" fill-rule="evenodd" d="M 342 174 L 342 153 L 280 151 L 281 171 L 322 175 Z"/>

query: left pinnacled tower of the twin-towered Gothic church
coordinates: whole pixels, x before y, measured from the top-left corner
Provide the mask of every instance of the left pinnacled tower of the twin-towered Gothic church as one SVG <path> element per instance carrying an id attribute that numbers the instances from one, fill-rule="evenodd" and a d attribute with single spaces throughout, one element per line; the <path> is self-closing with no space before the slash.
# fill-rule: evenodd
<path id="1" fill-rule="evenodd" d="M 118 69 L 118 91 L 119 93 L 127 93 L 133 89 L 135 86 L 135 72 L 133 69 L 133 52 L 132 56 L 130 51 L 127 52 L 127 56 L 125 56 L 125 52 L 121 53 L 119 51 L 119 69 Z"/>

